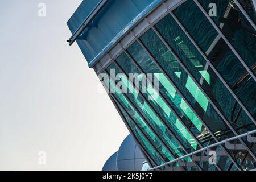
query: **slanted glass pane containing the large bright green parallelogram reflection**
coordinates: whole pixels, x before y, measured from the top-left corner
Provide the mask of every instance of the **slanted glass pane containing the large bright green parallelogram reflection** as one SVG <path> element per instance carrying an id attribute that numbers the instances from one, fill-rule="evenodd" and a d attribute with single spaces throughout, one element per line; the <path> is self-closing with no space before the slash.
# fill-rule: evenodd
<path id="1" fill-rule="evenodd" d="M 179 64 L 176 64 L 175 68 L 172 68 L 170 58 L 175 59 L 168 48 L 164 46 L 158 36 L 153 30 L 148 30 L 144 35 L 141 36 L 141 41 L 147 47 L 147 49 L 155 57 L 159 65 L 164 69 L 167 75 L 172 81 L 179 87 L 181 93 L 187 98 L 188 102 L 193 106 L 193 109 L 204 119 L 204 122 L 208 124 L 213 132 L 220 132 L 220 129 L 228 130 L 228 127 L 221 121 L 221 118 L 213 110 L 209 104 L 207 98 L 201 93 L 200 89 L 191 80 L 191 77 L 187 75 L 183 68 Z M 154 41 L 151 41 L 154 40 Z M 170 56 L 167 55 L 167 52 Z M 179 71 L 180 75 L 177 76 L 176 72 Z M 194 92 L 192 92 L 192 90 Z M 202 129 L 203 130 L 203 129 Z M 204 132 L 204 131 L 201 131 Z"/>

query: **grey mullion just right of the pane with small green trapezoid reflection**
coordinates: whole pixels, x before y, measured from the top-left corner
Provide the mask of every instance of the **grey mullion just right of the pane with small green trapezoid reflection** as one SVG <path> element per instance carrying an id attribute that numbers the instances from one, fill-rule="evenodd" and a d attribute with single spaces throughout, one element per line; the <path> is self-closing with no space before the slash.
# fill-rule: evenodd
<path id="1" fill-rule="evenodd" d="M 251 121 L 253 121 L 253 123 L 256 125 L 256 121 L 253 118 L 253 116 L 250 114 L 250 112 L 246 109 L 245 105 L 242 104 L 242 102 L 240 101 L 240 99 L 236 96 L 236 94 L 233 92 L 233 90 L 230 88 L 230 86 L 227 84 L 227 82 L 224 80 L 224 78 L 220 75 L 220 73 L 217 71 L 217 69 L 213 66 L 213 64 L 210 62 L 210 60 L 207 58 L 207 56 L 205 55 L 205 53 L 201 50 L 201 48 L 197 45 L 197 43 L 195 42 L 195 40 L 193 40 L 193 38 L 191 37 L 191 35 L 189 35 L 189 33 L 187 32 L 187 30 L 185 30 L 184 26 L 181 24 L 181 22 L 179 21 L 179 19 L 177 19 L 177 17 L 174 15 L 174 13 L 172 13 L 171 11 L 169 11 L 169 13 L 171 14 L 171 16 L 174 18 L 174 20 L 176 21 L 176 23 L 179 25 L 179 27 L 181 28 L 181 30 L 183 30 L 183 32 L 185 33 L 185 35 L 189 38 L 189 40 L 191 40 L 192 44 L 196 47 L 197 51 L 199 51 L 199 53 L 201 54 L 201 56 L 204 57 L 205 61 L 207 61 L 207 63 L 210 65 L 210 67 L 212 68 L 212 70 L 214 71 L 214 73 L 218 76 L 218 78 L 220 78 L 221 82 L 225 85 L 226 89 L 229 90 L 229 92 L 232 94 L 232 96 L 234 97 L 234 99 L 238 102 L 238 104 L 243 108 L 243 110 L 245 111 L 245 113 L 248 115 L 248 117 L 251 119 Z"/>

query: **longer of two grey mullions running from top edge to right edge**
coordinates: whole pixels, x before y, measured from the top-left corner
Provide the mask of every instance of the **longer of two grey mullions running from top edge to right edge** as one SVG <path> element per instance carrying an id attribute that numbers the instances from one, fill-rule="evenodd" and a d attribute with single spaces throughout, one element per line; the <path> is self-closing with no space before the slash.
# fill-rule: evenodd
<path id="1" fill-rule="evenodd" d="M 256 77 L 254 73 L 251 71 L 251 69 L 248 67 L 248 65 L 243 61 L 242 57 L 239 55 L 239 53 L 236 51 L 236 49 L 230 44 L 229 40 L 226 38 L 226 36 L 221 32 L 220 28 L 217 26 L 217 24 L 210 18 L 208 13 L 204 10 L 204 7 L 201 6 L 201 4 L 197 0 L 193 0 L 196 5 L 199 7 L 199 9 L 203 12 L 203 14 L 206 16 L 206 18 L 209 20 L 209 22 L 212 24 L 212 26 L 217 30 L 218 34 L 221 36 L 221 38 L 228 44 L 229 48 L 233 51 L 233 53 L 237 56 L 240 63 L 245 67 L 247 72 L 250 74 L 250 76 L 253 78 L 254 81 L 256 81 Z"/>

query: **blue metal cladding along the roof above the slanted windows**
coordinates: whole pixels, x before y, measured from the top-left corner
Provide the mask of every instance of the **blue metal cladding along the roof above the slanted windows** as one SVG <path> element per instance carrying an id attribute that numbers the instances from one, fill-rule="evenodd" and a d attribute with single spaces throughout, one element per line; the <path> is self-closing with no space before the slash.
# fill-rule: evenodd
<path id="1" fill-rule="evenodd" d="M 98 2 L 100 1 L 84 0 L 81 3 L 67 22 L 72 34 Z M 93 67 L 118 40 L 161 2 L 162 0 L 109 0 L 77 39 L 89 67 Z"/>

